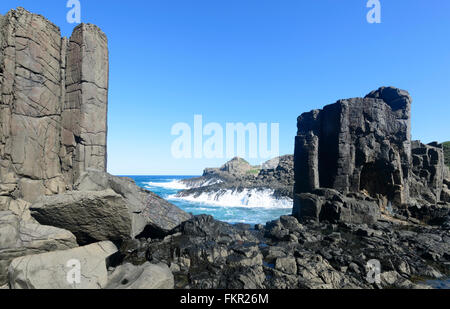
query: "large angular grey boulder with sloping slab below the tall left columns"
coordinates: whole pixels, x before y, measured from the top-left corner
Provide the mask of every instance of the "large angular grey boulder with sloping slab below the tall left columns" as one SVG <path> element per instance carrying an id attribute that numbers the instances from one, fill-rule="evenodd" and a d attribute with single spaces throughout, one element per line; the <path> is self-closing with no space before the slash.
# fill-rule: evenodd
<path id="1" fill-rule="evenodd" d="M 71 231 L 81 244 L 121 242 L 143 232 L 164 235 L 191 218 L 132 179 L 89 170 L 74 187 L 65 194 L 42 197 L 30 209 L 38 222 Z"/>

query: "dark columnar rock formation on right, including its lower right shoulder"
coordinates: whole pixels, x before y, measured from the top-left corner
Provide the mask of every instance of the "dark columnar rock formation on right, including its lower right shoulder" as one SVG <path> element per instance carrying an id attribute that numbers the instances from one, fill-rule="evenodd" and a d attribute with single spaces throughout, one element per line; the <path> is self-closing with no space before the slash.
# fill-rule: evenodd
<path id="1" fill-rule="evenodd" d="M 332 212 L 336 219 L 350 209 L 353 216 L 345 220 L 367 221 L 354 216 L 367 202 L 381 210 L 440 202 L 446 173 L 443 150 L 437 144 L 411 142 L 411 102 L 408 92 L 382 87 L 365 98 L 340 100 L 301 115 L 294 215 L 329 219 Z M 349 195 L 358 202 L 348 201 Z"/>

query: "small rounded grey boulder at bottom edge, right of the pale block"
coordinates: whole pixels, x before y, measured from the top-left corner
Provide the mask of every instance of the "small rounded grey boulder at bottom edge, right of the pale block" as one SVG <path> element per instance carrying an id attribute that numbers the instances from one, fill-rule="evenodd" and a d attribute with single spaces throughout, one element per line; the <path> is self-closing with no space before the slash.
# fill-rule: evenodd
<path id="1" fill-rule="evenodd" d="M 125 263 L 117 267 L 108 277 L 106 289 L 173 289 L 174 277 L 166 264 L 140 266 Z"/>

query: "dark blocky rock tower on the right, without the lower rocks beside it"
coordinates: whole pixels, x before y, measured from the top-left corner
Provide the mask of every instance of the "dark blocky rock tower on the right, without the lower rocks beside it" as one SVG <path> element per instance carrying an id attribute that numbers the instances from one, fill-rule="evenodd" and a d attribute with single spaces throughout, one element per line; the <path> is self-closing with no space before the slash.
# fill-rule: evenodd
<path id="1" fill-rule="evenodd" d="M 401 205 L 410 170 L 410 104 L 405 91 L 380 88 L 298 119 L 295 193 L 319 187 L 366 190 Z"/>

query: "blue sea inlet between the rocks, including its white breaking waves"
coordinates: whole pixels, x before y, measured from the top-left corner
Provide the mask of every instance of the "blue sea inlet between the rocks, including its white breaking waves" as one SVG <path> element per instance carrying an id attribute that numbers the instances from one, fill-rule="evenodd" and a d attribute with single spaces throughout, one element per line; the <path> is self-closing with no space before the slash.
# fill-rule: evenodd
<path id="1" fill-rule="evenodd" d="M 207 214 L 215 219 L 236 224 L 265 224 L 292 213 L 289 200 L 273 200 L 265 192 L 245 192 L 225 195 L 178 198 L 176 194 L 186 187 L 179 181 L 197 176 L 126 176 L 138 186 L 156 193 L 179 208 L 193 215 Z"/>

